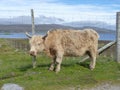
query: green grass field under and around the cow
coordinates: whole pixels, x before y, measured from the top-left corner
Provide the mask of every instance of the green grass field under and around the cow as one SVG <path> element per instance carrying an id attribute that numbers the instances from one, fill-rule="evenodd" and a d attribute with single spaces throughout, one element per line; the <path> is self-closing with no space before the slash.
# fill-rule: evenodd
<path id="1" fill-rule="evenodd" d="M 27 52 L 11 48 L 0 39 L 0 87 L 16 83 L 25 90 L 68 90 L 68 88 L 93 86 L 102 82 L 120 84 L 120 64 L 110 57 L 99 56 L 96 68 L 89 70 L 89 61 L 78 63 L 81 58 L 65 57 L 61 71 L 48 71 L 50 58 L 37 57 L 37 67 L 32 68 Z"/>

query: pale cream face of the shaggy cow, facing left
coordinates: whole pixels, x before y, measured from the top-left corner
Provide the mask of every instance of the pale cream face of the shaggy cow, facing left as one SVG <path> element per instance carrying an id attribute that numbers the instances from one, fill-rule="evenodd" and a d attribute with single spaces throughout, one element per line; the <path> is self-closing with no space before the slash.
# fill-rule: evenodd
<path id="1" fill-rule="evenodd" d="M 42 36 L 38 36 L 38 35 L 33 35 L 32 37 L 29 35 L 28 37 L 30 43 L 29 53 L 32 56 L 36 56 L 39 52 L 42 52 L 44 50 L 44 43 L 43 43 L 44 40 Z"/>

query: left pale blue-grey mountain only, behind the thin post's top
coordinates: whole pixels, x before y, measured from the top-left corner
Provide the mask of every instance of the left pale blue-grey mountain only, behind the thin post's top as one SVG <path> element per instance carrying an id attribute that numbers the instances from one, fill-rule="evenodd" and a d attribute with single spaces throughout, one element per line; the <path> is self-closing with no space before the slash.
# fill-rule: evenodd
<path id="1" fill-rule="evenodd" d="M 40 15 L 35 17 L 35 24 L 60 24 L 64 20 L 56 17 L 46 17 Z M 0 18 L 0 24 L 11 25 L 11 24 L 31 24 L 30 16 L 18 16 L 13 18 Z"/>

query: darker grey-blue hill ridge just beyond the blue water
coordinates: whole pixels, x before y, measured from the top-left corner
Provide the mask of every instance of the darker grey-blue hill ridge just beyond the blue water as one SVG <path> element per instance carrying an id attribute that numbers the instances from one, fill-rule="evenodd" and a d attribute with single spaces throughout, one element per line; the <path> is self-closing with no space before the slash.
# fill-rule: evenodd
<path id="1" fill-rule="evenodd" d="M 31 32 L 30 24 L 12 24 L 12 25 L 0 25 L 0 33 L 20 33 L 20 32 Z M 92 28 L 96 30 L 98 33 L 115 33 L 113 30 L 98 28 L 98 27 L 72 27 L 72 26 L 64 26 L 59 24 L 39 24 L 35 25 L 36 32 L 47 32 L 50 29 L 76 29 L 82 30 L 84 28 Z"/>

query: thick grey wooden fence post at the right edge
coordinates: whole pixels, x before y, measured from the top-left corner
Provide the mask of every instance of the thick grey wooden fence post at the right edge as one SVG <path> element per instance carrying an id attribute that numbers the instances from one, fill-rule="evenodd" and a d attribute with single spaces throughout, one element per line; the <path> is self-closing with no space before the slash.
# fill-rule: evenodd
<path id="1" fill-rule="evenodd" d="M 120 12 L 117 12 L 116 17 L 116 40 L 117 40 L 116 60 L 118 63 L 120 63 Z"/>

